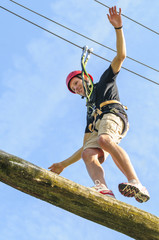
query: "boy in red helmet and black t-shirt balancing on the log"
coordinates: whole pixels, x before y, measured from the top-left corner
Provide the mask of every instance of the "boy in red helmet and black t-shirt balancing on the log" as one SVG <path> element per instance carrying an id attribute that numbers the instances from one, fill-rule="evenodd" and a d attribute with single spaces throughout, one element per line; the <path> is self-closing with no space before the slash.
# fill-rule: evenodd
<path id="1" fill-rule="evenodd" d="M 92 117 L 90 112 L 87 112 L 83 147 L 70 158 L 53 164 L 49 169 L 59 174 L 66 166 L 78 161 L 82 156 L 87 171 L 95 183 L 94 189 L 115 198 L 113 192 L 107 187 L 104 169 L 101 166 L 101 163 L 110 154 L 117 167 L 128 179 L 128 182 L 119 184 L 121 194 L 135 197 L 138 202 L 146 202 L 150 198 L 149 193 L 140 183 L 128 154 L 118 145 L 129 128 L 127 114 L 124 106 L 120 103 L 116 85 L 117 75 L 126 58 L 126 45 L 122 29 L 121 9 L 118 13 L 116 7 L 112 7 L 107 16 L 115 28 L 117 54 L 99 82 L 94 84 L 93 103 L 98 113 L 96 117 Z M 93 79 L 91 75 L 90 77 Z M 89 81 L 86 76 L 85 81 Z M 67 76 L 66 84 L 72 93 L 85 97 L 81 71 L 71 72 Z"/>

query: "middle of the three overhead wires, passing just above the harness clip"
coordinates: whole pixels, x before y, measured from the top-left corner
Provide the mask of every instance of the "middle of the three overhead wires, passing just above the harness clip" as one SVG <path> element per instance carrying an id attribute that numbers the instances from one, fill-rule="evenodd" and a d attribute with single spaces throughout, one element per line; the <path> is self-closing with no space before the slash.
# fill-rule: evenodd
<path id="1" fill-rule="evenodd" d="M 28 7 L 24 6 L 24 5 L 16 2 L 16 1 L 14 1 L 14 0 L 9 0 L 9 1 L 11 1 L 12 3 L 14 3 L 14 4 L 16 4 L 16 5 L 24 8 L 24 9 L 32 12 L 32 13 L 38 15 L 38 16 L 40 16 L 40 17 L 42 17 L 42 18 L 44 18 L 44 19 L 46 19 L 46 20 L 48 20 L 48 21 L 50 21 L 50 22 L 53 22 L 53 23 L 59 25 L 60 27 L 63 27 L 63 28 L 65 28 L 65 29 L 69 30 L 69 31 L 71 31 L 71 32 L 73 32 L 73 33 L 75 33 L 75 34 L 77 34 L 77 35 L 79 35 L 79 36 L 81 36 L 81 37 L 89 40 L 89 41 L 92 41 L 92 42 L 94 42 L 94 43 L 96 43 L 96 44 L 98 44 L 98 45 L 100 45 L 100 46 L 102 46 L 102 47 L 104 47 L 104 48 L 107 48 L 107 49 L 109 49 L 109 50 L 111 50 L 111 51 L 113 51 L 113 52 L 116 52 L 116 50 L 114 50 L 114 49 L 112 49 L 112 48 L 110 48 L 110 47 L 108 47 L 108 46 L 106 46 L 106 45 L 104 45 L 104 44 L 102 44 L 102 43 L 99 43 L 99 42 L 97 42 L 96 40 L 94 40 L 94 39 L 92 39 L 92 38 L 90 38 L 90 37 L 87 37 L 87 36 L 85 36 L 85 35 L 77 32 L 77 31 L 75 31 L 75 30 L 73 30 L 73 29 L 71 29 L 71 28 L 69 28 L 69 27 L 66 27 L 65 25 L 63 25 L 63 24 L 61 24 L 61 23 L 58 23 L 57 21 L 54 21 L 53 19 L 50 19 L 50 18 L 42 15 L 41 13 L 38 13 L 38 12 L 36 12 L 36 11 L 34 11 L 34 10 L 32 10 L 32 9 L 30 9 L 30 8 L 28 8 Z M 149 65 L 147 65 L 147 64 L 145 64 L 145 63 L 143 63 L 143 62 L 140 62 L 140 61 L 138 61 L 138 60 L 136 60 L 136 59 L 134 59 L 134 58 L 132 58 L 132 57 L 129 57 L 129 56 L 126 56 L 126 57 L 127 57 L 128 59 L 130 59 L 130 60 L 138 63 L 138 64 L 141 64 L 141 65 L 143 65 L 143 66 L 145 66 L 145 67 L 147 67 L 147 68 L 150 68 L 151 70 L 154 70 L 154 71 L 156 71 L 156 72 L 159 72 L 158 69 L 153 68 L 153 67 L 151 67 L 151 66 L 149 66 Z"/>

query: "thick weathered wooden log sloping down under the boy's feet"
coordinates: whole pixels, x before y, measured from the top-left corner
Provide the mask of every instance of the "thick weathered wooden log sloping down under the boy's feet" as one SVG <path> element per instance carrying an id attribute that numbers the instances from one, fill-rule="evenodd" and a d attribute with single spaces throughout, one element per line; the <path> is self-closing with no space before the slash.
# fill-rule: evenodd
<path id="1" fill-rule="evenodd" d="M 138 240 L 159 240 L 159 218 L 0 151 L 0 181 Z"/>

